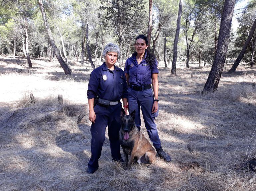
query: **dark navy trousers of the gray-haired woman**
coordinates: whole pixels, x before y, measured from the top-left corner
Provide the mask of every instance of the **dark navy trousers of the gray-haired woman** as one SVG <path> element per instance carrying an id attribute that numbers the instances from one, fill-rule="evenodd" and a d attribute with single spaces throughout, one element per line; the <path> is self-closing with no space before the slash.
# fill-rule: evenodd
<path id="1" fill-rule="evenodd" d="M 108 107 L 96 105 L 94 112 L 96 120 L 95 123 L 91 124 L 91 158 L 88 162 L 88 168 L 91 170 L 96 170 L 99 167 L 98 160 L 105 141 L 107 126 L 112 159 L 121 160 L 119 143 L 121 103 Z"/>

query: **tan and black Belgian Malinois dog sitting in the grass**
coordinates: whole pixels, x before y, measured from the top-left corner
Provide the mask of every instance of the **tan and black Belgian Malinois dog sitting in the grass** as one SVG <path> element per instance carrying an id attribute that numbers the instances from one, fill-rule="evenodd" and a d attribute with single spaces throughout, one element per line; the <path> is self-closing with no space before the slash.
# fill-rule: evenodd
<path id="1" fill-rule="evenodd" d="M 155 162 L 155 149 L 135 125 L 135 110 L 130 115 L 125 115 L 124 109 L 122 108 L 120 117 L 121 129 L 119 131 L 119 141 L 124 151 L 127 169 L 131 168 L 134 158 L 137 159 L 139 164 Z M 130 155 L 129 160 L 128 155 Z"/>

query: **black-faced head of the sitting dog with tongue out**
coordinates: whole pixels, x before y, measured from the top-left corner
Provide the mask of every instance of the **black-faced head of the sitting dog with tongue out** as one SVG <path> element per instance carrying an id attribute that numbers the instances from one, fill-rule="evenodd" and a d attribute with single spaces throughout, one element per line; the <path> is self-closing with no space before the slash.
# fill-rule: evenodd
<path id="1" fill-rule="evenodd" d="M 130 115 L 125 115 L 124 109 L 122 108 L 121 113 L 121 128 L 124 131 L 124 139 L 129 139 L 129 132 L 134 128 L 135 123 L 135 110 Z"/>

